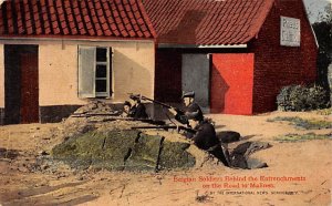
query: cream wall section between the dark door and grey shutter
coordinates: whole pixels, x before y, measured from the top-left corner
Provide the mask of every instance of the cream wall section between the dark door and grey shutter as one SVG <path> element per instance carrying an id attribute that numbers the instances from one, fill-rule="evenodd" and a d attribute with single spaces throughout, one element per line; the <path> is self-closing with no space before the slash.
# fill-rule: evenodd
<path id="1" fill-rule="evenodd" d="M 77 99 L 77 47 L 59 42 L 39 45 L 39 103 L 82 104 Z"/>

